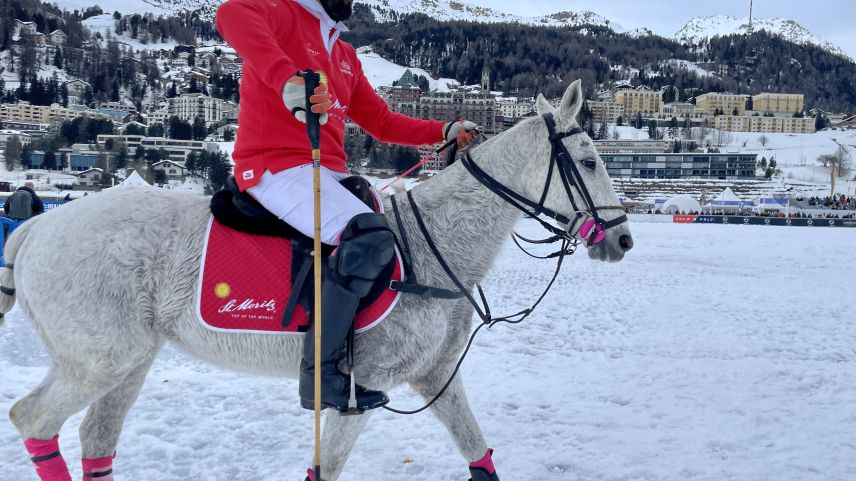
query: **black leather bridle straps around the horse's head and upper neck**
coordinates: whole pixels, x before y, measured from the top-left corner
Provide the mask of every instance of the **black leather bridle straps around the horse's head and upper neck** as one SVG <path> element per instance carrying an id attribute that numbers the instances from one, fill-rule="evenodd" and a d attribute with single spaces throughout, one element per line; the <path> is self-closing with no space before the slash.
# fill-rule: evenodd
<path id="1" fill-rule="evenodd" d="M 594 204 L 591 194 L 589 193 L 589 190 L 586 187 L 585 182 L 583 181 L 582 175 L 580 174 L 580 171 L 574 162 L 573 156 L 571 156 L 571 153 L 568 152 L 568 149 L 567 147 L 565 147 L 564 142 L 562 142 L 562 140 L 567 137 L 582 134 L 585 131 L 579 127 L 574 127 L 567 132 L 556 132 L 556 120 L 554 119 L 553 114 L 544 114 L 542 115 L 542 118 L 544 119 L 544 123 L 547 124 L 547 133 L 550 139 L 551 151 L 550 165 L 549 170 L 547 171 L 547 179 L 544 182 L 544 190 L 541 192 L 541 199 L 537 203 L 518 194 L 517 192 L 514 192 L 508 186 L 503 185 L 498 180 L 491 177 L 487 172 L 485 172 L 475 163 L 469 151 L 467 151 L 463 159 L 461 159 L 461 163 L 464 164 L 464 167 L 467 169 L 467 171 L 482 185 L 487 187 L 488 190 L 498 195 L 500 198 L 505 200 L 507 203 L 513 205 L 524 214 L 528 215 L 529 217 L 532 217 L 533 219 L 538 221 L 542 227 L 551 232 L 554 237 L 552 237 L 550 240 L 556 241 L 561 239 L 572 239 L 575 234 L 575 228 L 576 233 L 580 233 L 583 230 L 582 228 L 585 219 L 590 218 L 594 221 L 592 225 L 593 228 L 589 230 L 589 235 L 584 235 L 583 237 L 585 238 L 584 240 L 587 241 L 588 245 L 597 244 L 600 242 L 600 240 L 597 240 L 595 242 L 595 234 L 603 233 L 607 229 L 616 227 L 627 222 L 626 214 L 622 214 L 621 216 L 609 221 L 604 221 L 603 218 L 598 214 L 598 211 L 621 210 L 623 212 L 624 207 L 621 205 L 596 206 Z M 549 209 L 544 205 L 544 203 L 547 201 L 547 195 L 550 191 L 550 184 L 553 180 L 553 171 L 557 169 L 559 171 L 559 178 L 562 181 L 562 186 L 565 188 L 565 192 L 568 195 L 568 199 L 571 201 L 571 205 L 574 208 L 574 219 L 569 219 L 568 217 L 552 209 Z M 579 206 L 577 206 L 577 203 L 574 200 L 572 188 L 575 188 L 579 193 L 580 197 L 582 197 L 583 203 L 586 207 L 585 210 L 581 210 Z M 556 220 L 560 224 L 566 225 L 567 228 L 559 229 L 556 226 L 550 224 L 549 222 L 546 222 L 545 220 L 539 217 L 542 214 Z"/>

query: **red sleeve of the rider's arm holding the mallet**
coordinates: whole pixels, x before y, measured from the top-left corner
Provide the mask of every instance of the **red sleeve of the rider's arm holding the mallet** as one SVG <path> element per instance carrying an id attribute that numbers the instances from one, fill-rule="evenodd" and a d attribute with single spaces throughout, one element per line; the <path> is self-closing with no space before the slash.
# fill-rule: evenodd
<path id="1" fill-rule="evenodd" d="M 262 82 L 282 92 L 285 81 L 296 72 L 294 62 L 277 41 L 277 30 L 290 29 L 292 19 L 285 6 L 274 10 L 268 2 L 229 0 L 217 9 L 215 23 L 220 35 L 258 74 Z"/>

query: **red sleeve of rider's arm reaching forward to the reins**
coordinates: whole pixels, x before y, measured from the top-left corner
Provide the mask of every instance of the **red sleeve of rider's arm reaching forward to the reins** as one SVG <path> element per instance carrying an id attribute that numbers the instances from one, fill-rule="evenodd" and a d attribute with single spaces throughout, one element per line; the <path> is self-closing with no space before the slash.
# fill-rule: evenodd
<path id="1" fill-rule="evenodd" d="M 381 142 L 434 145 L 443 141 L 443 122 L 414 119 L 390 110 L 363 74 L 363 67 L 356 54 L 353 59 L 359 68 L 348 108 L 351 120 Z"/>

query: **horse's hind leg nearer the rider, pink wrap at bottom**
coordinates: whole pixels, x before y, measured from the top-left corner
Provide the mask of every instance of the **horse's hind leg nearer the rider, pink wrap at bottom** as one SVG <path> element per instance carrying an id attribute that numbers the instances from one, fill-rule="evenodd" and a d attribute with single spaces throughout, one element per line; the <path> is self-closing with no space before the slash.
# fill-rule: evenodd
<path id="1" fill-rule="evenodd" d="M 122 433 L 122 424 L 140 394 L 153 361 L 154 356 L 89 406 L 80 424 L 84 474 L 90 474 L 100 481 L 113 480 L 113 456 Z"/>

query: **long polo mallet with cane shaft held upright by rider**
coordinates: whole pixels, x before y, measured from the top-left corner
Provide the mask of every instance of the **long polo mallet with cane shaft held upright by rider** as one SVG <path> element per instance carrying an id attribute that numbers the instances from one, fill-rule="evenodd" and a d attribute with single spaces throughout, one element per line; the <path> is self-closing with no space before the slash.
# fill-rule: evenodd
<path id="1" fill-rule="evenodd" d="M 312 187 L 315 204 L 315 480 L 321 481 L 321 115 L 312 111 L 310 98 L 321 85 L 321 75 L 308 69 L 298 72 L 306 84 L 306 133 L 312 147 Z M 309 342 L 309 339 L 304 340 Z"/>

